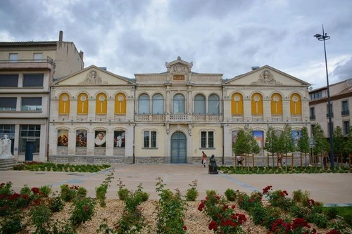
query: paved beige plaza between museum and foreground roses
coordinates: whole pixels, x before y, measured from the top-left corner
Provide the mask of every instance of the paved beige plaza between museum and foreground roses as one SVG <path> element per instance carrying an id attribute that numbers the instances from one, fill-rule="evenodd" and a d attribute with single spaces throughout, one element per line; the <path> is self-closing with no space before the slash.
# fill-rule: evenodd
<path id="1" fill-rule="evenodd" d="M 324 202 L 326 206 L 352 206 L 352 174 L 208 174 L 208 168 L 201 164 L 113 164 L 115 170 L 108 198 L 117 198 L 118 178 L 126 188 L 136 190 L 142 183 L 143 190 L 150 194 L 151 200 L 157 200 L 157 178 L 163 179 L 166 188 L 178 188 L 184 195 L 192 181 L 198 181 L 198 200 L 206 196 L 206 190 L 217 190 L 223 195 L 227 188 L 251 194 L 262 191 L 266 186 L 273 190 L 287 190 L 291 197 L 294 190 L 307 190 L 313 200 Z M 98 173 L 48 172 L 48 171 L 0 171 L 0 182 L 11 181 L 18 192 L 24 185 L 49 185 L 60 190 L 61 184 L 77 185 L 87 188 L 88 195 L 95 197 L 95 188 L 99 186 L 111 169 Z"/>

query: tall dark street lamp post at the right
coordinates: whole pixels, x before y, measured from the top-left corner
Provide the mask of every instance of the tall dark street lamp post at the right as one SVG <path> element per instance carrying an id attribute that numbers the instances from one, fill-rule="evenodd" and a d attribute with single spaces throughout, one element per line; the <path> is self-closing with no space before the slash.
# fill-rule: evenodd
<path id="1" fill-rule="evenodd" d="M 324 54 L 325 54 L 325 70 L 327 72 L 327 50 L 325 48 L 325 41 L 329 40 L 330 37 L 327 36 L 327 34 L 324 32 L 324 25 L 322 25 L 322 35 L 320 34 L 315 34 L 314 37 L 316 37 L 319 41 L 324 41 Z M 332 141 L 332 106 L 331 106 L 331 101 L 330 101 L 330 90 L 329 90 L 329 74 L 327 73 L 327 112 L 329 115 L 329 141 L 330 141 L 330 163 L 331 167 L 334 167 L 334 143 Z"/>

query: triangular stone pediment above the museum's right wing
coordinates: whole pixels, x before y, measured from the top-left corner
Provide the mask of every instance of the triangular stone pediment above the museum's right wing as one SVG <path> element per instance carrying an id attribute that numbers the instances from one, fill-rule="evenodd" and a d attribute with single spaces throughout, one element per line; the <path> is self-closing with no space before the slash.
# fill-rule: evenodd
<path id="1" fill-rule="evenodd" d="M 242 86 L 310 86 L 309 83 L 268 65 L 229 79 L 224 84 Z"/>

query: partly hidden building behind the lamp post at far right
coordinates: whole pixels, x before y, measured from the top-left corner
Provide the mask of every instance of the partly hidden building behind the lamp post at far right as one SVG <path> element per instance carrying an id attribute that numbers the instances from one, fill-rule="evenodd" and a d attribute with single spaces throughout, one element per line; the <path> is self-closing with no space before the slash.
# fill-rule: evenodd
<path id="1" fill-rule="evenodd" d="M 352 79 L 329 85 L 330 103 L 332 105 L 332 126 L 341 126 L 344 136 L 348 136 L 348 129 L 351 126 L 352 115 Z M 327 86 L 314 89 L 310 94 L 310 124 L 313 126 L 318 123 L 322 126 L 325 136 L 329 138 L 329 115 L 327 104 Z"/>

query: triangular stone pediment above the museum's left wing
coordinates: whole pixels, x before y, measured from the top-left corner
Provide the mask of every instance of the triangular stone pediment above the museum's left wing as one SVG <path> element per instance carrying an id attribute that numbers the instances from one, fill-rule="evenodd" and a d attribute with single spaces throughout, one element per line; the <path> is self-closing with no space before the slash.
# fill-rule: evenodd
<path id="1" fill-rule="evenodd" d="M 99 86 L 99 85 L 130 85 L 134 84 L 130 79 L 121 77 L 112 72 L 101 70 L 91 65 L 83 70 L 70 74 L 56 82 L 54 86 Z"/>

